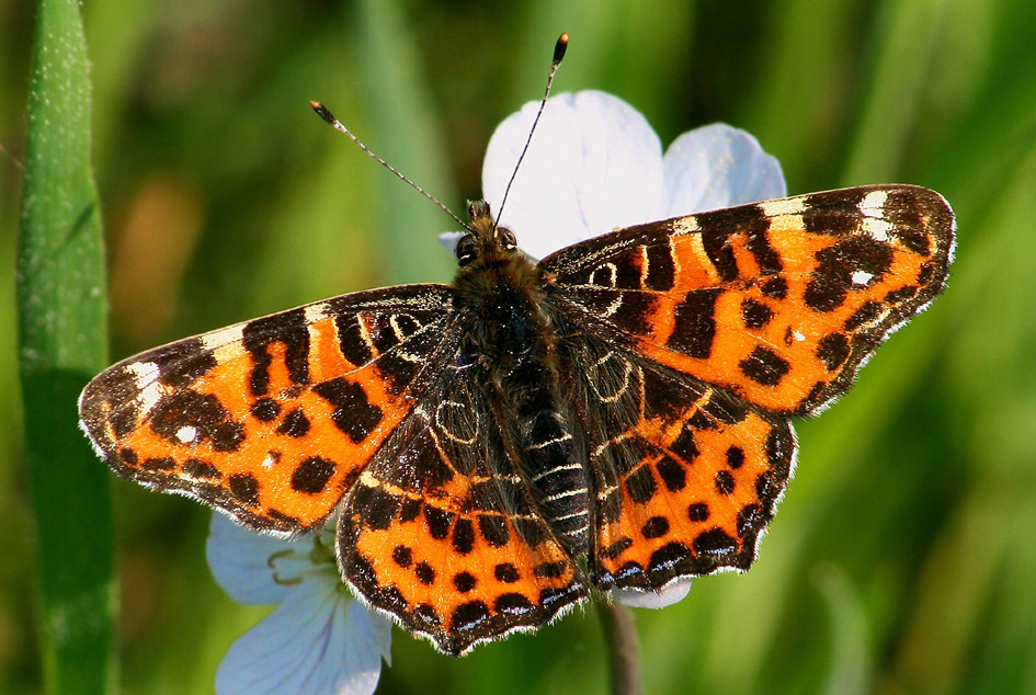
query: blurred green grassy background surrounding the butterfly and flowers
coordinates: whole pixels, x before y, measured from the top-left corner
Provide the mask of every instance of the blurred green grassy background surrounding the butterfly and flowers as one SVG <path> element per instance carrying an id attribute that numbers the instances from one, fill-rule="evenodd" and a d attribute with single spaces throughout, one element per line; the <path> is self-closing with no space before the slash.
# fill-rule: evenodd
<path id="1" fill-rule="evenodd" d="M 798 474 L 753 570 L 637 613 L 645 686 L 1036 692 L 1036 3 L 96 0 L 83 12 L 113 361 L 330 295 L 448 281 L 435 233 L 451 220 L 307 101 L 460 210 L 479 196 L 494 125 L 542 93 L 561 31 L 556 91 L 611 91 L 665 144 L 725 121 L 781 160 L 790 193 L 942 192 L 959 224 L 945 296 L 850 396 L 799 423 Z M 0 0 L 0 692 L 14 694 L 41 687 L 12 280 L 33 21 L 31 3 Z M 122 687 L 206 692 L 265 611 L 232 604 L 208 574 L 207 510 L 111 485 Z M 592 609 L 459 661 L 397 631 L 392 663 L 379 693 L 607 687 Z"/>

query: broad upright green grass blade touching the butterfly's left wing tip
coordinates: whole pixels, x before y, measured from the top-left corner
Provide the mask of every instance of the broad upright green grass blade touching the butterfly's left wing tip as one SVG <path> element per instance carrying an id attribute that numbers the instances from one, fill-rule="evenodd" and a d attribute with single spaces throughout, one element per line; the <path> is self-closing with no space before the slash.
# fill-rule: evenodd
<path id="1" fill-rule="evenodd" d="M 52 693 L 102 693 L 115 673 L 110 479 L 76 401 L 106 358 L 104 260 L 75 0 L 38 5 L 29 109 L 18 304 L 44 679 Z"/>

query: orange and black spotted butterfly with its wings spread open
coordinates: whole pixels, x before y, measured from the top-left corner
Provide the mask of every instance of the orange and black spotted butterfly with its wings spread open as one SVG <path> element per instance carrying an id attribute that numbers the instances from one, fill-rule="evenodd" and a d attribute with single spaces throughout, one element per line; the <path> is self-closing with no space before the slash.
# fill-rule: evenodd
<path id="1" fill-rule="evenodd" d="M 816 413 L 943 289 L 954 217 L 881 185 L 619 229 L 538 263 L 470 206 L 448 285 L 182 340 L 86 388 L 118 475 L 261 531 L 452 654 L 594 589 L 745 570 Z"/>

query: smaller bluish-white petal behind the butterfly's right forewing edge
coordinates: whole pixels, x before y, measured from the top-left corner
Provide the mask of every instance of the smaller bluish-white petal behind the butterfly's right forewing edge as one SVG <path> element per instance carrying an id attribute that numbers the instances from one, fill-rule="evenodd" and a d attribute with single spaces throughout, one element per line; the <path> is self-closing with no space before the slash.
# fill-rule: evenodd
<path id="1" fill-rule="evenodd" d="M 738 128 L 714 123 L 684 133 L 665 152 L 663 217 L 691 215 L 787 195 L 776 158 Z"/>

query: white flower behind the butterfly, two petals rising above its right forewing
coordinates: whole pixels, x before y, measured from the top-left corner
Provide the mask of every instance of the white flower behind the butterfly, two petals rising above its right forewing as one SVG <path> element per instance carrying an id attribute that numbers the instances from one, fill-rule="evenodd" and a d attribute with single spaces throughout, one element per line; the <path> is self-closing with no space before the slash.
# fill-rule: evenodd
<path id="1" fill-rule="evenodd" d="M 532 145 L 500 213 L 539 102 L 493 133 L 482 163 L 482 193 L 519 246 L 542 259 L 618 227 L 781 198 L 781 164 L 759 141 L 716 123 L 684 133 L 664 157 L 645 117 L 612 94 L 559 94 L 547 102 Z M 660 608 L 687 595 L 691 579 L 658 592 L 616 590 L 627 605 Z"/>

